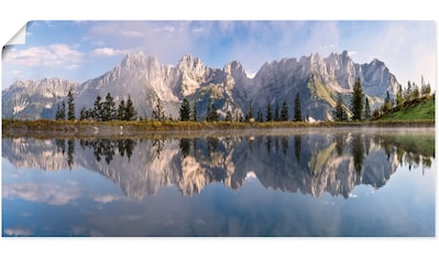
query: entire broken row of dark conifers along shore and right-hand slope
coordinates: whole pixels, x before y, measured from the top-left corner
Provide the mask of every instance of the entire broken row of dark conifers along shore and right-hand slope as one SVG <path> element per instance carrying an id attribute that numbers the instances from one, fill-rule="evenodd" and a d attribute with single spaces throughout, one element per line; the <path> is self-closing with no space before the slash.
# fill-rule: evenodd
<path id="1" fill-rule="evenodd" d="M 353 91 L 350 100 L 350 106 L 343 102 L 342 96 L 339 95 L 336 107 L 333 109 L 334 121 L 363 121 L 377 119 L 381 116 L 389 112 L 392 109 L 397 109 L 404 106 L 404 104 L 417 100 L 419 98 L 430 98 L 431 87 L 430 84 L 425 84 L 424 78 L 421 80 L 421 87 L 418 87 L 415 83 L 408 82 L 407 87 L 403 90 L 402 85 L 398 86 L 398 91 L 394 99 L 389 97 L 387 90 L 384 104 L 371 110 L 370 99 L 363 93 L 360 78 L 355 79 Z M 256 113 L 253 111 L 253 106 L 250 105 L 245 117 L 237 115 L 237 121 L 246 122 L 270 122 L 270 121 L 288 121 L 288 104 L 284 99 L 282 106 L 278 104 L 272 104 L 267 101 L 265 106 L 265 111 L 263 112 L 261 108 L 257 109 Z M 218 108 L 213 99 L 209 98 L 207 105 L 207 112 L 204 120 L 208 122 L 219 121 L 221 116 L 218 112 Z M 76 120 L 75 117 L 75 99 L 72 89 L 67 94 L 67 101 L 63 100 L 57 105 L 56 120 Z M 142 120 L 142 118 L 140 118 Z M 155 106 L 152 111 L 152 119 L 157 121 L 165 121 L 169 118 L 165 116 L 165 107 L 163 101 L 157 98 Z M 194 101 L 190 106 L 189 100 L 184 97 L 180 108 L 179 108 L 179 119 L 180 121 L 198 121 L 198 107 L 197 102 Z M 121 100 L 117 106 L 113 97 L 110 93 L 107 94 L 105 99 L 99 95 L 96 97 L 92 107 L 87 109 L 83 108 L 79 112 L 79 120 L 96 120 L 96 121 L 110 121 L 110 120 L 138 120 L 138 112 L 129 95 L 127 101 Z M 227 111 L 223 117 L 226 121 L 232 121 L 233 117 L 231 111 Z M 300 109 L 300 95 L 296 94 L 294 99 L 294 115 L 293 121 L 304 121 L 301 109 Z"/>

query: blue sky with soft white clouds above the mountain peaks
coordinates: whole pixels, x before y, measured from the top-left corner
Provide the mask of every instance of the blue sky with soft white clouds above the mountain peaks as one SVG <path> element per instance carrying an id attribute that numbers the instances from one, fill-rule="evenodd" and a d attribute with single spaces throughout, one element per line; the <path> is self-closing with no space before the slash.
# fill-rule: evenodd
<path id="1" fill-rule="evenodd" d="M 436 32 L 418 20 L 36 20 L 25 44 L 3 51 L 2 88 L 19 78 L 83 83 L 135 51 L 168 65 L 184 54 L 217 68 L 237 59 L 250 75 L 265 62 L 348 51 L 356 63 L 383 61 L 403 86 L 421 75 L 436 86 Z"/>

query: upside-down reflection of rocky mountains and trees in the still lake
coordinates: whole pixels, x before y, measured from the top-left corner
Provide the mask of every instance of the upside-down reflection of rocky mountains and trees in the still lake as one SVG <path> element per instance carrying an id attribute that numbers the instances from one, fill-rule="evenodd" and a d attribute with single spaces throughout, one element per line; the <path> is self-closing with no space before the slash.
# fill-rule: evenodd
<path id="1" fill-rule="evenodd" d="M 142 199 L 176 185 L 184 196 L 222 183 L 238 191 L 249 175 L 284 193 L 349 198 L 356 185 L 384 186 L 398 165 L 428 169 L 435 136 L 364 132 L 152 137 L 138 139 L 28 138 L 2 141 L 15 167 L 85 167 Z"/>

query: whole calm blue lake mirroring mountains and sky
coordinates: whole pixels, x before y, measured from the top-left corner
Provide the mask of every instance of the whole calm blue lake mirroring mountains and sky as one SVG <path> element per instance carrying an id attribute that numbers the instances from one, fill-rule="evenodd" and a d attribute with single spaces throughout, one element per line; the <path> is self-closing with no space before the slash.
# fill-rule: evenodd
<path id="1" fill-rule="evenodd" d="M 433 128 L 2 138 L 3 237 L 435 237 Z"/>

